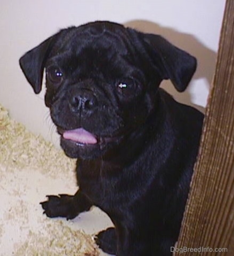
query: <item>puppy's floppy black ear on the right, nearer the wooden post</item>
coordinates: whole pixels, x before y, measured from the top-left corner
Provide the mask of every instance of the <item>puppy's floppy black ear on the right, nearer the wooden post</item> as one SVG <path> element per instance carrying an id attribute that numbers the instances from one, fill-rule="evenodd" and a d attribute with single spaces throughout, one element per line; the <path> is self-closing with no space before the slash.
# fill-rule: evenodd
<path id="1" fill-rule="evenodd" d="M 162 36 L 143 34 L 143 40 L 147 43 L 147 48 L 152 55 L 150 56 L 152 62 L 156 66 L 162 65 L 158 69 L 163 79 L 170 79 L 177 91 L 184 91 L 196 71 L 196 58 L 172 45 Z"/>

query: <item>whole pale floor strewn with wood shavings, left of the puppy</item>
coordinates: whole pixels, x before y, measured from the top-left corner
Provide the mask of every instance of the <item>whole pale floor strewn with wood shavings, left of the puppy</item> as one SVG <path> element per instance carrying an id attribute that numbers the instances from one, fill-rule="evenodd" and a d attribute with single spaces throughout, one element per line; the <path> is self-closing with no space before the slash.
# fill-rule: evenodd
<path id="1" fill-rule="evenodd" d="M 91 235 L 42 214 L 45 195 L 75 193 L 75 160 L 9 118 L 0 105 L 0 255 L 92 255 Z"/>

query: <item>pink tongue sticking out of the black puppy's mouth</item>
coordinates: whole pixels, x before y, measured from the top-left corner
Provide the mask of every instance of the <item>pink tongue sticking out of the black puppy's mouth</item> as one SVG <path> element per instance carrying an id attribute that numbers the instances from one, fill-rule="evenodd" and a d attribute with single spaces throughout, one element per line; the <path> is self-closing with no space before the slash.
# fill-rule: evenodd
<path id="1" fill-rule="evenodd" d="M 96 144 L 98 142 L 93 134 L 83 128 L 64 131 L 63 138 L 83 144 Z"/>

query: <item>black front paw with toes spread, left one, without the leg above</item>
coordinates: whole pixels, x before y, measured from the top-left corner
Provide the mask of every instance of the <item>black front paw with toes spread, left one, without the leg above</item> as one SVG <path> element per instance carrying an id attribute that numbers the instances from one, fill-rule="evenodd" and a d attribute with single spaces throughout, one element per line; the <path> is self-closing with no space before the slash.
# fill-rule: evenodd
<path id="1" fill-rule="evenodd" d="M 79 214 L 74 204 L 74 196 L 59 195 L 46 197 L 48 200 L 40 203 L 46 216 L 50 218 L 65 217 L 67 220 L 71 220 Z"/>

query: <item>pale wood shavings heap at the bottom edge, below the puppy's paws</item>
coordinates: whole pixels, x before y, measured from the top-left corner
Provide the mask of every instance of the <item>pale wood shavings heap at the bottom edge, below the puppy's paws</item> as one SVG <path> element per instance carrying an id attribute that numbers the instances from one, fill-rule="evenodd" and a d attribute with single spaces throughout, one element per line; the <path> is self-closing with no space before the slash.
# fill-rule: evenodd
<path id="1" fill-rule="evenodd" d="M 87 253 L 87 250 L 92 252 Z M 99 253 L 90 236 L 85 235 L 84 232 L 72 230 L 62 221 L 54 221 L 44 224 L 43 231 L 37 233 L 29 231 L 27 241 L 17 249 L 14 255 L 98 256 Z"/>

